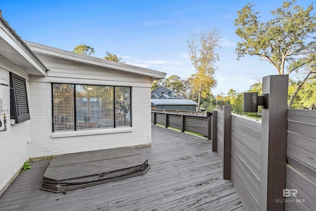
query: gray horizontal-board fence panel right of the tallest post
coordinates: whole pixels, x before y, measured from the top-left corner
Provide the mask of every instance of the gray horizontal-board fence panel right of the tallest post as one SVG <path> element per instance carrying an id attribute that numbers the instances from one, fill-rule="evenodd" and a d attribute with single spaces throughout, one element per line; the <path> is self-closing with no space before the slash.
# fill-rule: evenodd
<path id="1" fill-rule="evenodd" d="M 286 188 L 296 197 L 286 197 L 286 209 L 316 208 L 316 111 L 288 109 Z M 304 203 L 303 203 L 304 200 Z"/>

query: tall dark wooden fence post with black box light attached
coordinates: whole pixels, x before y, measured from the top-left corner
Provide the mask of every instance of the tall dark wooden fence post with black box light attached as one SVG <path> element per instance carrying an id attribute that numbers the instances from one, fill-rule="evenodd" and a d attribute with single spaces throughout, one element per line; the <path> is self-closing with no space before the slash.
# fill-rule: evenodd
<path id="1" fill-rule="evenodd" d="M 283 211 L 286 174 L 288 75 L 267 76 L 262 93 L 269 94 L 268 108 L 262 109 L 260 210 Z"/>

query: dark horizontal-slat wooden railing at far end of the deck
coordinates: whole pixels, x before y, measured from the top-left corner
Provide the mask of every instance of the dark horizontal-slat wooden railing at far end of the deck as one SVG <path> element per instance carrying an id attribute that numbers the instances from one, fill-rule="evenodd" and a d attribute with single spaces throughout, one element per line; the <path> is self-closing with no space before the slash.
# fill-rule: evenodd
<path id="1" fill-rule="evenodd" d="M 194 132 L 211 139 L 211 113 L 206 116 L 184 115 L 152 111 L 152 124 L 173 127 L 181 132 Z"/>

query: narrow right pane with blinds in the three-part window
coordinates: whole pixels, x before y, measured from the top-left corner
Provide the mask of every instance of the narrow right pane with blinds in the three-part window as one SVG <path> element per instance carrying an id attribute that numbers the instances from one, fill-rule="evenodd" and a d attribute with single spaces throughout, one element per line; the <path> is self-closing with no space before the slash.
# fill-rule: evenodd
<path id="1" fill-rule="evenodd" d="M 116 127 L 131 126 L 130 87 L 115 87 L 115 123 Z"/>

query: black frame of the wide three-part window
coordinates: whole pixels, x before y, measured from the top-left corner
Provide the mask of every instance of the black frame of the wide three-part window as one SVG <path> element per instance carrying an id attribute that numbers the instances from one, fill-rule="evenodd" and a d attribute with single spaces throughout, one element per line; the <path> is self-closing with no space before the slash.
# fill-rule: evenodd
<path id="1" fill-rule="evenodd" d="M 60 130 L 55 131 L 54 129 L 54 95 L 53 95 L 53 85 L 54 84 L 67 84 L 67 85 L 74 85 L 74 130 Z M 117 127 L 116 125 L 116 95 L 115 95 L 115 88 L 116 87 L 128 87 L 129 88 L 129 109 L 130 109 L 130 126 L 125 127 L 132 127 L 132 86 L 118 86 L 118 85 L 104 85 L 104 84 L 73 84 L 73 83 L 51 83 L 51 105 L 52 105 L 52 132 L 65 132 L 65 131 L 88 131 L 89 129 L 79 129 L 77 128 L 77 103 L 76 103 L 76 85 L 93 85 L 93 86 L 111 86 L 113 87 L 113 116 L 114 116 L 114 127 L 100 127 L 100 128 L 92 128 L 92 129 L 108 129 L 108 128 L 122 128 Z"/>

